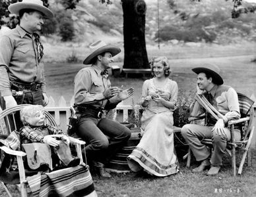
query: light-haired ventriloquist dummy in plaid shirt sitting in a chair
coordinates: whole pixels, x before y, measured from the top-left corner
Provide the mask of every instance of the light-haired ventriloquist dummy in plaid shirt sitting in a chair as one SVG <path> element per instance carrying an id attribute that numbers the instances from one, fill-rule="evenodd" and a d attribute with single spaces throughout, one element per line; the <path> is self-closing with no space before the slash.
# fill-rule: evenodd
<path id="1" fill-rule="evenodd" d="M 74 167 L 80 164 L 80 158 L 73 158 L 69 148 L 69 137 L 67 137 L 61 129 L 45 123 L 44 107 L 40 105 L 26 106 L 20 111 L 20 119 L 24 123 L 24 127 L 20 128 L 20 138 L 22 143 L 42 142 L 51 147 L 53 156 L 57 155 L 61 160 L 63 167 Z M 57 140 L 51 135 L 61 135 L 61 140 Z M 55 161 L 58 164 L 59 161 Z M 55 167 L 55 165 L 53 165 Z M 58 166 L 59 167 L 59 166 Z"/>

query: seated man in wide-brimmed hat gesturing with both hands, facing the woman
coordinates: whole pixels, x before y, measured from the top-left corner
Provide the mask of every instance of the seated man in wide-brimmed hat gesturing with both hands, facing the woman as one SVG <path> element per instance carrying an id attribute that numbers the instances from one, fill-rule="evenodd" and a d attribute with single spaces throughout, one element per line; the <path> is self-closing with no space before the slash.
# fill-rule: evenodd
<path id="1" fill-rule="evenodd" d="M 97 41 L 90 45 L 90 49 L 92 53 L 84 64 L 92 65 L 82 68 L 75 76 L 75 108 L 80 114 L 77 135 L 87 142 L 86 157 L 98 174 L 110 178 L 104 164 L 129 139 L 131 131 L 116 121 L 102 118 L 102 111 L 113 109 L 121 100 L 131 97 L 133 88 L 122 91 L 111 87 L 107 69 L 113 62 L 113 56 L 120 53 L 119 47 Z"/>

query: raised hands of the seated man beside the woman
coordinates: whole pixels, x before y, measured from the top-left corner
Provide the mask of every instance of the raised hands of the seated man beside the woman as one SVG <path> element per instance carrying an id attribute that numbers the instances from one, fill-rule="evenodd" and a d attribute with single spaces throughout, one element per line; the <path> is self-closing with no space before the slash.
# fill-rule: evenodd
<path id="1" fill-rule="evenodd" d="M 129 87 L 125 90 L 119 89 L 119 87 L 110 87 L 106 89 L 103 95 L 106 99 L 117 97 L 118 100 L 125 100 L 131 97 L 133 93 L 134 93 L 133 87 Z"/>

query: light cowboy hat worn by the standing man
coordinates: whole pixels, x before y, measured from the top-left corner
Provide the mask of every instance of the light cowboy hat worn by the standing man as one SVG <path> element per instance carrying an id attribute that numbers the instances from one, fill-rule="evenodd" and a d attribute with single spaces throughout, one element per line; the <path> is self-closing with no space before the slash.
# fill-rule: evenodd
<path id="1" fill-rule="evenodd" d="M 23 0 L 22 2 L 17 2 L 9 5 L 8 9 L 12 14 L 16 14 L 17 16 L 20 10 L 32 9 L 42 12 L 47 18 L 53 18 L 53 12 L 45 7 L 43 1 L 41 0 Z"/>

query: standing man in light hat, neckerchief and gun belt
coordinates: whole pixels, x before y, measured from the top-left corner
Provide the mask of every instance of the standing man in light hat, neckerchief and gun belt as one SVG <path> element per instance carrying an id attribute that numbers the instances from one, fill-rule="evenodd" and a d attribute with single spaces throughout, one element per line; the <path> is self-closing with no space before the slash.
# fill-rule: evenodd
<path id="1" fill-rule="evenodd" d="M 44 47 L 37 33 L 43 17 L 53 12 L 40 0 L 23 0 L 8 7 L 20 16 L 20 25 L 0 37 L 1 108 L 17 104 L 48 104 L 44 64 Z"/>

